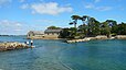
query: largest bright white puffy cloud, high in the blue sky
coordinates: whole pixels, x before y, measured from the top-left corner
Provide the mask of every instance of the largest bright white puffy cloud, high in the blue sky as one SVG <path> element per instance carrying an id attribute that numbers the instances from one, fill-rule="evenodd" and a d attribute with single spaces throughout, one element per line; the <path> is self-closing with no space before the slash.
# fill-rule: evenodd
<path id="1" fill-rule="evenodd" d="M 27 9 L 28 4 L 22 5 L 22 9 Z M 32 13 L 39 14 L 50 14 L 57 15 L 63 12 L 72 12 L 73 9 L 71 7 L 60 7 L 56 2 L 48 2 L 48 3 L 33 3 L 29 5 L 29 9 L 32 10 Z"/>

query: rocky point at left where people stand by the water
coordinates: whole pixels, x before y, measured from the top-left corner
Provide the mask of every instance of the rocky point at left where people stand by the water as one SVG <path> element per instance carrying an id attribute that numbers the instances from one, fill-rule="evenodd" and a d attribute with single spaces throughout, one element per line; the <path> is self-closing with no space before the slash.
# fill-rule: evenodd
<path id="1" fill-rule="evenodd" d="M 13 50 L 13 49 L 20 49 L 20 48 L 29 48 L 24 43 L 18 43 L 18 42 L 4 42 L 0 43 L 0 51 L 4 50 Z"/>

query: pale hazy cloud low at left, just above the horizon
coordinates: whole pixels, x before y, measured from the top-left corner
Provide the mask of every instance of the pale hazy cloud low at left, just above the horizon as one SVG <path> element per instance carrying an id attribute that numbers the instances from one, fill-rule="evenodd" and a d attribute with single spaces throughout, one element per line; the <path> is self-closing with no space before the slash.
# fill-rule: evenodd
<path id="1" fill-rule="evenodd" d="M 0 21 L 0 34 L 20 34 L 23 31 L 23 25 L 20 22 L 13 22 L 9 20 Z"/>

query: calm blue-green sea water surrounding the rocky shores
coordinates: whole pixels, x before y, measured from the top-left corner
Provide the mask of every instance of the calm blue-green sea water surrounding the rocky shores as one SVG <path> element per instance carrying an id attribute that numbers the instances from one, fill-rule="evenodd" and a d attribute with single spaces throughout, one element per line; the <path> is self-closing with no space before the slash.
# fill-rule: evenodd
<path id="1" fill-rule="evenodd" d="M 0 36 L 0 42 L 25 42 L 25 36 Z M 0 70 L 126 70 L 126 40 L 66 44 L 34 40 L 35 48 L 0 52 Z"/>

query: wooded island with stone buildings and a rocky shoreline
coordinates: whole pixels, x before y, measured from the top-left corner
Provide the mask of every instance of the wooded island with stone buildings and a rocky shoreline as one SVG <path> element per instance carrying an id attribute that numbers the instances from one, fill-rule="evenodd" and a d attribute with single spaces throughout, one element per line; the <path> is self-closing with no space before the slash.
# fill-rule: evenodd
<path id="1" fill-rule="evenodd" d="M 66 43 L 86 42 L 91 39 L 126 39 L 126 23 L 115 20 L 97 21 L 88 15 L 72 15 L 73 27 L 49 26 L 44 32 L 30 31 L 30 39 L 66 39 Z M 82 21 L 81 25 L 77 25 Z"/>

